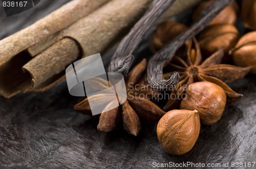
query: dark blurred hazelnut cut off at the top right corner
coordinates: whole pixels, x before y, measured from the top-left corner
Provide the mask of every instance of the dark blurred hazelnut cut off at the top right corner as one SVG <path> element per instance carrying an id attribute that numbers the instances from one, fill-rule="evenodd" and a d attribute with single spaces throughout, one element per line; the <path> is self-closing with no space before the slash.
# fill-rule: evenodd
<path id="1" fill-rule="evenodd" d="M 256 1 L 242 1 L 242 19 L 244 26 L 251 30 L 256 30 Z"/>

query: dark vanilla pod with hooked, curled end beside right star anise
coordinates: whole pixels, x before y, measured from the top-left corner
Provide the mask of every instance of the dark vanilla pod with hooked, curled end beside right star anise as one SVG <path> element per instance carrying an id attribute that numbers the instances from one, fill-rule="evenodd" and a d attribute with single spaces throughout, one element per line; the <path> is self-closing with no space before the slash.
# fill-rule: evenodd
<path id="1" fill-rule="evenodd" d="M 165 91 L 172 88 L 179 81 L 179 74 L 174 72 L 169 75 L 168 79 L 163 78 L 163 67 L 172 60 L 176 50 L 189 38 L 197 35 L 208 23 L 220 13 L 233 0 L 216 0 L 209 5 L 190 28 L 167 44 L 157 52 L 148 62 L 147 82 L 153 90 Z"/>

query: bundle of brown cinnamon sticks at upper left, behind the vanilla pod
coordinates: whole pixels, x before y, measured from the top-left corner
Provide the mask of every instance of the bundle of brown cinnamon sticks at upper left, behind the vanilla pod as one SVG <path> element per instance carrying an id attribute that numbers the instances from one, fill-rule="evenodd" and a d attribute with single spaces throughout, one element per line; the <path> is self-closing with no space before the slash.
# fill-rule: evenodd
<path id="1" fill-rule="evenodd" d="M 162 20 L 201 0 L 177 0 Z M 138 21 L 152 0 L 73 0 L 0 41 L 0 94 L 45 91 L 74 61 L 109 48 Z M 181 5 L 182 4 L 182 5 Z"/>

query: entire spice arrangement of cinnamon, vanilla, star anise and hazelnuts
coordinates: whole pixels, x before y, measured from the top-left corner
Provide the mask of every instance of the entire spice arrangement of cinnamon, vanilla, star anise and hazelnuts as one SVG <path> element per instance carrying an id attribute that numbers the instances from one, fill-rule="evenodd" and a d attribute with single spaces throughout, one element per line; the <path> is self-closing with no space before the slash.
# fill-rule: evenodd
<path id="1" fill-rule="evenodd" d="M 214 125 L 221 119 L 226 104 L 243 97 L 227 82 L 256 73 L 256 1 L 184 2 L 72 1 L 0 41 L 0 94 L 9 98 L 19 92 L 51 88 L 65 78 L 67 65 L 113 46 L 137 21 L 119 43 L 108 69 L 110 73 L 123 74 L 127 100 L 104 111 L 113 107 L 113 102 L 109 102 L 100 116 L 95 116 L 99 118 L 97 129 L 110 132 L 123 128 L 137 136 L 142 121 L 153 125 L 158 122 L 156 131 L 163 148 L 170 154 L 184 154 L 196 144 L 201 125 Z M 193 24 L 170 20 L 158 24 L 148 40 L 154 55 L 130 70 L 137 57 L 134 51 L 143 36 L 159 20 L 163 21 L 163 14 L 173 16 L 168 10 L 183 5 L 184 11 L 198 2 L 201 3 L 190 18 Z M 245 32 L 236 27 L 240 17 Z M 63 20 L 66 24 L 59 25 Z M 7 73 L 10 75 L 4 76 Z M 13 78 L 9 78 L 11 75 Z M 107 80 L 93 82 L 98 89 L 109 87 Z M 93 99 L 100 103 L 113 95 L 116 96 L 97 94 Z M 88 98 L 74 109 L 91 115 Z"/>

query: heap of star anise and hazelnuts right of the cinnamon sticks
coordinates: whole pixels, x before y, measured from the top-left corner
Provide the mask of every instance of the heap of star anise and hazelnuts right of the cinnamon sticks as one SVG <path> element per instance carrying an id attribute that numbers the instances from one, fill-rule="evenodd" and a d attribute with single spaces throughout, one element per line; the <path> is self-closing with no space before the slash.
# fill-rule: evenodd
<path id="1" fill-rule="evenodd" d="M 193 20 L 196 21 L 212 2 L 214 1 L 210 0 L 199 4 L 193 13 Z M 248 4 L 250 8 L 247 8 Z M 243 78 L 248 73 L 255 73 L 256 55 L 253 48 L 256 32 L 247 33 L 240 38 L 240 33 L 234 26 L 242 13 L 245 27 L 256 30 L 256 19 L 253 18 L 255 15 L 250 15 L 250 20 L 244 16 L 253 11 L 256 11 L 255 1 L 243 1 L 241 10 L 239 5 L 233 2 L 223 9 L 197 38 L 187 39 L 170 62 L 164 65 L 165 79 L 175 71 L 180 76 L 179 82 L 170 92 L 153 90 L 146 79 L 141 78 L 146 74 L 146 61 L 141 61 L 126 78 L 128 97 L 122 105 L 122 111 L 119 107 L 102 113 L 98 130 L 109 132 L 123 124 L 127 132 L 137 135 L 141 127 L 140 121 L 156 121 L 162 117 L 157 125 L 157 136 L 163 148 L 175 155 L 191 150 L 198 139 L 200 124 L 217 123 L 226 103 L 236 102 L 243 96 L 233 91 L 226 83 Z M 176 21 L 159 24 L 151 38 L 152 51 L 161 51 L 172 40 L 177 41 L 175 38 L 186 30 L 186 25 Z M 132 86 L 129 85 L 130 82 L 133 83 Z M 134 88 L 135 84 L 139 88 Z M 175 97 L 169 97 L 161 107 L 159 103 L 164 101 L 160 100 L 159 96 L 166 93 Z M 148 94 L 150 98 L 137 97 L 141 96 L 140 94 Z M 87 114 L 90 114 L 87 99 L 78 103 L 75 109 L 82 112 L 86 110 Z M 123 123 L 120 123 L 121 119 Z"/>

